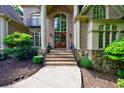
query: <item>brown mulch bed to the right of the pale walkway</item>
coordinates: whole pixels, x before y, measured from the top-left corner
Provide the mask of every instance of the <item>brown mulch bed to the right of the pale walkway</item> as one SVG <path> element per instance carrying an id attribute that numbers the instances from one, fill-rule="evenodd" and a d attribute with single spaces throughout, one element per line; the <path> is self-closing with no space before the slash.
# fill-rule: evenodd
<path id="1" fill-rule="evenodd" d="M 101 71 L 81 68 L 84 88 L 115 88 L 117 76 Z"/>

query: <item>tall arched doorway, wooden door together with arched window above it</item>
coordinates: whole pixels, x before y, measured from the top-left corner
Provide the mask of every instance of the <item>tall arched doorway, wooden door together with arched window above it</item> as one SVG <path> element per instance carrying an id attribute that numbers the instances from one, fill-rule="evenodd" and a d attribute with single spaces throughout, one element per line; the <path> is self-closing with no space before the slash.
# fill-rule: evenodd
<path id="1" fill-rule="evenodd" d="M 55 48 L 66 48 L 67 18 L 58 13 L 54 17 L 54 45 Z"/>

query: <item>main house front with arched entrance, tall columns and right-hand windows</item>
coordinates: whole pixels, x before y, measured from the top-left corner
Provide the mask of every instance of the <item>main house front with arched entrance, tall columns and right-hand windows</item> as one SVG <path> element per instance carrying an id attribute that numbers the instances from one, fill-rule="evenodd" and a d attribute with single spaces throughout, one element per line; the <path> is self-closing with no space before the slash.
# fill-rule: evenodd
<path id="1" fill-rule="evenodd" d="M 76 48 L 92 55 L 124 35 L 121 5 L 23 5 L 34 47 Z"/>

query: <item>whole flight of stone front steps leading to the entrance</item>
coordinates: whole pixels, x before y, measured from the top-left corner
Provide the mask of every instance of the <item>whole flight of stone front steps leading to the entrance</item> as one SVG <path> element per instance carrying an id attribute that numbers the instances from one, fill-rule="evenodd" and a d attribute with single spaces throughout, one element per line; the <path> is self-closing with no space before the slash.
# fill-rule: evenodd
<path id="1" fill-rule="evenodd" d="M 69 50 L 51 50 L 50 53 L 46 56 L 45 59 L 46 65 L 70 65 L 76 66 L 77 63 L 75 61 L 74 55 Z"/>

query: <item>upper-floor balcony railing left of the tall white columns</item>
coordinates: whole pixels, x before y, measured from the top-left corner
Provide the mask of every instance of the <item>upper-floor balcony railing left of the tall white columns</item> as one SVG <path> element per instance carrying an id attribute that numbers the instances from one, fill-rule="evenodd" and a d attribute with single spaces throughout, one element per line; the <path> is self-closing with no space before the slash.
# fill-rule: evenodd
<path id="1" fill-rule="evenodd" d="M 40 18 L 27 18 L 27 26 L 41 26 L 41 19 Z"/>

